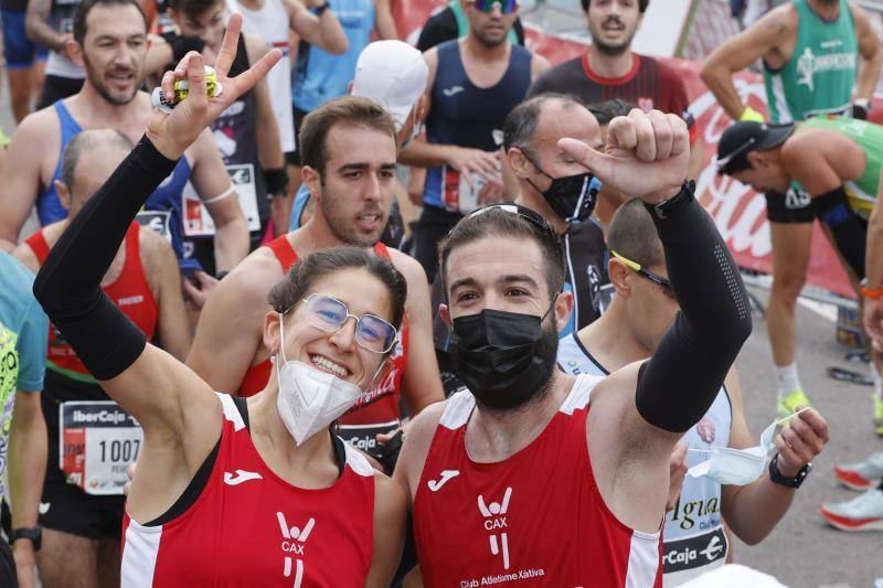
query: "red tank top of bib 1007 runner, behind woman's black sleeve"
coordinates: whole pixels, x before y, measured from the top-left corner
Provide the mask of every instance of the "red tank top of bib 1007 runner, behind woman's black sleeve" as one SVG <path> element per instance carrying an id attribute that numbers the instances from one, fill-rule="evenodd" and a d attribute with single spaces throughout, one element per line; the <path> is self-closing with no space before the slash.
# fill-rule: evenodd
<path id="1" fill-rule="evenodd" d="M 129 231 L 126 233 L 126 260 L 123 270 L 117 279 L 103 287 L 102 290 L 150 340 L 153 339 L 157 330 L 159 307 L 150 291 L 147 275 L 141 266 L 141 249 L 138 245 L 139 231 L 138 223 L 129 226 Z M 31 235 L 25 243 L 34 252 L 36 260 L 42 266 L 50 252 L 43 229 Z M 46 365 L 50 370 L 74 379 L 95 382 L 71 345 L 52 324 L 49 327 Z"/>

